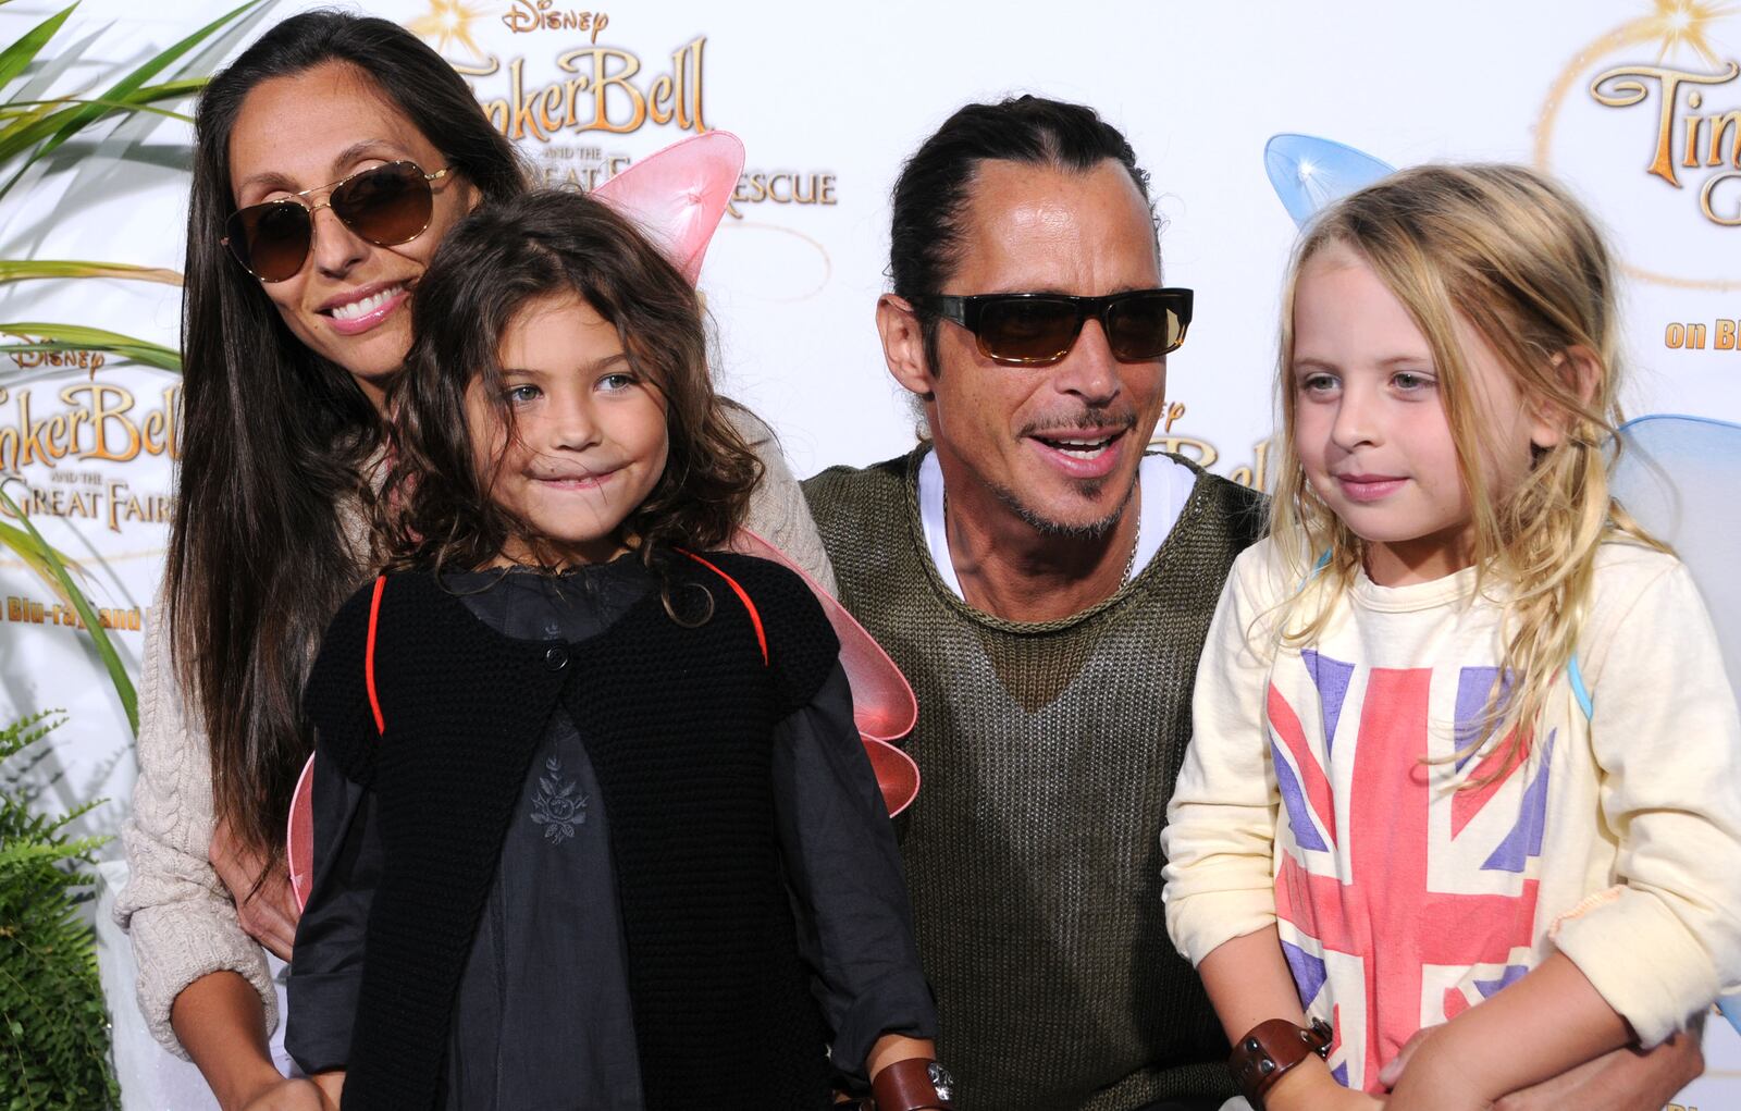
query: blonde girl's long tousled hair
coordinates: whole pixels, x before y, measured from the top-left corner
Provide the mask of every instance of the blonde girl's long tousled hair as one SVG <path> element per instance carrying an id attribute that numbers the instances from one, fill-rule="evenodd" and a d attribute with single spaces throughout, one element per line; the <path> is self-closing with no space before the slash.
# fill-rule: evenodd
<path id="1" fill-rule="evenodd" d="M 1288 644 L 1313 641 L 1332 597 L 1354 582 L 1361 540 L 1318 498 L 1294 442 L 1294 296 L 1321 251 L 1372 266 L 1426 338 L 1473 508 L 1476 592 L 1501 599 L 1502 656 L 1482 728 L 1459 756 L 1502 737 L 1494 777 L 1520 761 L 1548 690 L 1565 672 L 1595 580 L 1596 547 L 1616 535 L 1661 549 L 1609 495 L 1607 446 L 1623 421 L 1614 263 L 1590 214 L 1520 165 L 1421 165 L 1327 209 L 1301 237 L 1281 303 L 1281 435 L 1271 536 L 1295 582 L 1283 603 Z M 1516 489 L 1496 496 L 1482 474 L 1490 427 L 1457 338 L 1462 320 L 1492 348 L 1525 406 L 1562 428 L 1536 448 Z M 1327 554 L 1327 559 L 1325 559 Z M 1318 561 L 1325 559 L 1323 566 Z M 1489 777 L 1492 778 L 1492 777 Z"/>

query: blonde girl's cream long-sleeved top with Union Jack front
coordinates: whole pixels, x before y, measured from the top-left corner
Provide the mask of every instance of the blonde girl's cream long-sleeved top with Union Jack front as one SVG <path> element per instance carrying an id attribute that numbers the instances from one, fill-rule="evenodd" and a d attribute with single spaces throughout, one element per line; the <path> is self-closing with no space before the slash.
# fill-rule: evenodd
<path id="1" fill-rule="evenodd" d="M 1492 768 L 1452 759 L 1502 644 L 1475 569 L 1361 575 L 1311 646 L 1278 648 L 1301 589 L 1271 542 L 1247 549 L 1203 650 L 1161 839 L 1180 953 L 1278 926 L 1309 1013 L 1341 1012 L 1332 1069 L 1368 1090 L 1415 1029 L 1553 951 L 1647 1047 L 1736 982 L 1741 717 L 1680 561 L 1598 549 L 1577 644 L 1595 709 L 1555 683 L 1530 761 L 1482 789 L 1459 787 Z"/>

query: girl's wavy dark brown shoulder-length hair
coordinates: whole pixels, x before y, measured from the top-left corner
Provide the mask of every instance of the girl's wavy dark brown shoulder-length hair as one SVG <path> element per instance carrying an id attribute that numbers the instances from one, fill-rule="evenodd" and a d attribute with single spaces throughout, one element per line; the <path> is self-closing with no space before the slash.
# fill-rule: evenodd
<path id="1" fill-rule="evenodd" d="M 674 545 L 721 547 L 742 522 L 761 461 L 714 392 L 695 287 L 611 207 L 538 192 L 467 216 L 418 286 L 416 338 L 387 404 L 393 465 L 376 502 L 388 566 L 474 569 L 510 538 L 548 562 L 536 531 L 489 498 L 494 475 L 474 461 L 465 394 L 482 376 L 514 435 L 498 359 L 503 333 L 526 305 L 562 293 L 611 322 L 630 367 L 665 395 L 665 470 L 623 521 L 642 559 L 658 566 Z"/>

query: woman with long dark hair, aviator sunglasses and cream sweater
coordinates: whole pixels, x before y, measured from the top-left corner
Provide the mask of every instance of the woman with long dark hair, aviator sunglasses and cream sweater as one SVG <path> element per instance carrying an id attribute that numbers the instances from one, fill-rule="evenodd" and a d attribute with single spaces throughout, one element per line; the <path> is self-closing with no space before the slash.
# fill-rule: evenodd
<path id="1" fill-rule="evenodd" d="M 289 956 L 282 839 L 310 751 L 320 630 L 369 573 L 362 507 L 409 300 L 446 232 L 526 192 L 465 82 L 383 19 L 306 12 L 212 78 L 197 115 L 183 460 L 146 637 L 139 780 L 117 914 L 153 1034 L 219 1104 L 317 1108 L 273 1067 L 254 939 Z M 766 428 L 750 528 L 832 583 Z"/>

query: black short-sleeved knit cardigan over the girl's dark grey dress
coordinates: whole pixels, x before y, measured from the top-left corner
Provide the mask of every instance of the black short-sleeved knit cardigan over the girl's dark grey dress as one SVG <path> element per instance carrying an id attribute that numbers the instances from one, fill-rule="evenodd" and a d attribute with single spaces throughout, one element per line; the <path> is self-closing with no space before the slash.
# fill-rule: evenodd
<path id="1" fill-rule="evenodd" d="M 670 575 L 679 613 L 705 609 L 696 587 L 712 596 L 700 627 L 674 622 L 655 590 L 578 644 L 505 637 L 432 575 L 388 576 L 373 658 L 385 731 L 366 684 L 374 585 L 333 620 L 305 707 L 322 759 L 374 789 L 387 857 L 346 1109 L 437 1106 L 463 965 L 557 704 L 611 815 L 646 1108 L 825 1106 L 827 1031 L 782 872 L 771 733 L 839 643 L 785 568 L 707 561 L 717 571 L 677 557 Z"/>

